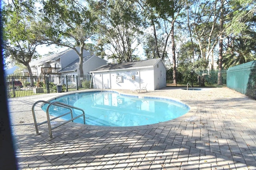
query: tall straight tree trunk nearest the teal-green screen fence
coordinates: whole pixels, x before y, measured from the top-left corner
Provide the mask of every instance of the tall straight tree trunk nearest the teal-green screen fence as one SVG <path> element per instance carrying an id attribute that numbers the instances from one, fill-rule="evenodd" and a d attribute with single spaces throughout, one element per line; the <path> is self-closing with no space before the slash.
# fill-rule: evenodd
<path id="1" fill-rule="evenodd" d="M 222 51 L 223 51 L 223 38 L 222 38 L 222 31 L 223 31 L 223 0 L 221 0 L 222 6 L 220 7 L 220 36 L 219 36 L 219 68 L 218 68 L 218 85 L 222 85 Z"/>

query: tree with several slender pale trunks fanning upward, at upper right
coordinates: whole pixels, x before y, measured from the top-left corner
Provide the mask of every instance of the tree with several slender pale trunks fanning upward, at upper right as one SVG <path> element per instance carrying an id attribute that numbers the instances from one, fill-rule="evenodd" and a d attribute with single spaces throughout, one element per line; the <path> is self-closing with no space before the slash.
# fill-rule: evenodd
<path id="1" fill-rule="evenodd" d="M 218 0 L 197 1 L 190 9 L 190 17 L 193 21 L 193 33 L 200 47 L 201 57 L 208 62 L 209 56 L 218 43 L 220 31 L 220 10 L 225 1 Z"/>

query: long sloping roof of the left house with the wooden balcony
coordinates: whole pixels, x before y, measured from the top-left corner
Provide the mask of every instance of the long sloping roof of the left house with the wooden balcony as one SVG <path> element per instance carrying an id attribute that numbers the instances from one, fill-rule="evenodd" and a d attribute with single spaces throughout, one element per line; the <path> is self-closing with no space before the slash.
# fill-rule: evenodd
<path id="1" fill-rule="evenodd" d="M 79 51 L 80 47 L 76 47 L 76 49 Z M 86 52 L 85 51 L 86 50 L 84 49 L 83 54 L 86 54 L 86 52 L 88 52 L 88 51 L 86 51 Z M 75 55 L 75 56 L 78 57 L 78 55 L 76 54 L 76 51 L 74 49 L 67 49 L 67 50 L 62 51 L 60 53 L 55 53 L 55 54 L 48 55 L 46 57 L 37 59 L 36 61 L 32 61 L 32 62 L 30 62 L 30 66 L 42 65 L 42 64 L 47 63 L 47 62 L 56 61 L 57 59 L 59 59 L 63 55 Z"/>

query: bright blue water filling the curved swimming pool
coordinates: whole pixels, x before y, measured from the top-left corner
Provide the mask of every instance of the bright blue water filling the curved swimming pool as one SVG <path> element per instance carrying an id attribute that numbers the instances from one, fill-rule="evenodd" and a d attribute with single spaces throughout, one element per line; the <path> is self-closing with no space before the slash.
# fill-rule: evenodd
<path id="1" fill-rule="evenodd" d="M 187 113 L 190 108 L 178 101 L 159 97 L 124 95 L 114 91 L 93 91 L 74 93 L 58 97 L 59 101 L 84 110 L 86 125 L 130 127 L 150 125 L 175 119 Z M 48 104 L 42 109 L 46 111 Z M 52 105 L 50 115 L 59 116 L 68 110 Z M 81 111 L 74 110 L 77 115 Z M 75 117 L 75 116 L 74 116 Z M 70 119 L 70 115 L 62 119 Z M 83 118 L 74 120 L 84 123 Z"/>

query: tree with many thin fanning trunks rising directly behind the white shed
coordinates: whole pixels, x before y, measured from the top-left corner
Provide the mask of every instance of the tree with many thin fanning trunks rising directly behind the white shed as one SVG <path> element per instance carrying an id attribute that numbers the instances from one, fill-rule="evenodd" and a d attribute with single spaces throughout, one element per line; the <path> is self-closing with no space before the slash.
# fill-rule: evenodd
<path id="1" fill-rule="evenodd" d="M 109 59 L 123 63 L 137 60 L 134 54 L 142 34 L 142 22 L 132 1 L 109 0 L 91 4 L 100 17 L 100 33 L 112 52 Z"/>

